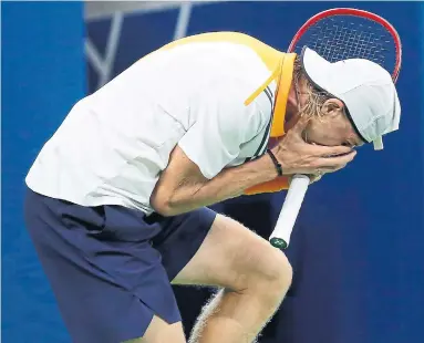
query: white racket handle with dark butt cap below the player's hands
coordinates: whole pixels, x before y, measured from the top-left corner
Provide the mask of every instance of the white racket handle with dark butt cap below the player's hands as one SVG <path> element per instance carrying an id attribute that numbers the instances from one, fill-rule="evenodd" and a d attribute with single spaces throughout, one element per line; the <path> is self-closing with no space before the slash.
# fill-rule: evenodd
<path id="1" fill-rule="evenodd" d="M 285 204 L 278 217 L 276 228 L 273 229 L 270 243 L 279 249 L 286 249 L 290 243 L 290 236 L 298 218 L 300 207 L 302 206 L 304 195 L 308 190 L 310 179 L 306 175 L 294 175 L 289 191 L 287 193 Z"/>

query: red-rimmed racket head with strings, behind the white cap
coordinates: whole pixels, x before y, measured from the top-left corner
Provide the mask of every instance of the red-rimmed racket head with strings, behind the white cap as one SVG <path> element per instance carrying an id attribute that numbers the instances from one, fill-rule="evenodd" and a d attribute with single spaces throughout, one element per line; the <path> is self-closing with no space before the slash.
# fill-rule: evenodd
<path id="1" fill-rule="evenodd" d="M 310 18 L 293 37 L 289 52 L 301 54 L 303 46 L 329 62 L 366 59 L 380 64 L 397 80 L 402 65 L 402 43 L 397 31 L 374 13 L 337 8 Z"/>

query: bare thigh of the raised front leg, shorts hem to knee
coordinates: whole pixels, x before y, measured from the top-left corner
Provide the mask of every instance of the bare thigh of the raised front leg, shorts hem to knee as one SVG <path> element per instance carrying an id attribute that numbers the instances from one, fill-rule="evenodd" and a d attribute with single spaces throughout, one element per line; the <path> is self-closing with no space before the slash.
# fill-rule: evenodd
<path id="1" fill-rule="evenodd" d="M 217 215 L 201 247 L 175 277 L 174 284 L 218 285 L 242 290 L 247 279 L 280 274 L 286 256 L 238 221 Z"/>

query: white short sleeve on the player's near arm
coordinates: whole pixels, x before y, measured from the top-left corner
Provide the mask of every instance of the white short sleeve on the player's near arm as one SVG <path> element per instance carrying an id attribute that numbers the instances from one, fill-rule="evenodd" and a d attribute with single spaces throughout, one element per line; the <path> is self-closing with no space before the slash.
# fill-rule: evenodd
<path id="1" fill-rule="evenodd" d="M 245 101 L 236 84 L 226 83 L 196 96 L 190 106 L 190 112 L 197 111 L 196 122 L 178 145 L 208 179 L 236 159 L 240 146 L 267 124 L 258 104 L 247 106 Z"/>

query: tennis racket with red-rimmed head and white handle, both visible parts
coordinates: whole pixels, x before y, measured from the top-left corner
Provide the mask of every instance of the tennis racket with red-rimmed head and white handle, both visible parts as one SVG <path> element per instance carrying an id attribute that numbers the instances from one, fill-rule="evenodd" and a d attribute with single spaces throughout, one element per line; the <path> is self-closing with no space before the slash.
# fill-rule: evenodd
<path id="1" fill-rule="evenodd" d="M 402 64 L 401 39 L 385 19 L 362 10 L 338 8 L 310 18 L 296 33 L 288 52 L 314 50 L 329 62 L 366 59 L 383 66 L 396 82 Z M 309 186 L 309 177 L 294 175 L 270 243 L 286 249 Z"/>

